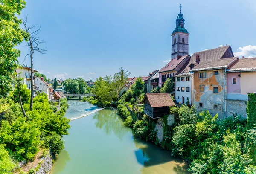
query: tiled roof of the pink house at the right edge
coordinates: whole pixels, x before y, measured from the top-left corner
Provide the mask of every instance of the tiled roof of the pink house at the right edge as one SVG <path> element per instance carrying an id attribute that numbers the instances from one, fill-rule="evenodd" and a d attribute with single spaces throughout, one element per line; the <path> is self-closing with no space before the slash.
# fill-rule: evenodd
<path id="1" fill-rule="evenodd" d="M 239 62 L 229 68 L 228 71 L 250 71 L 256 70 L 256 58 L 241 58 Z"/>

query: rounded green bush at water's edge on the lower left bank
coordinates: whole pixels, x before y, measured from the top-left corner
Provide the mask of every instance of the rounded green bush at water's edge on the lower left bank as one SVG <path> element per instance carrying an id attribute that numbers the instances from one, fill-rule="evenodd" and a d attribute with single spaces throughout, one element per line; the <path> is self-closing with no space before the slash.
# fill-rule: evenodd
<path id="1" fill-rule="evenodd" d="M 62 140 L 61 136 L 57 133 L 52 133 L 52 135 L 46 136 L 44 143 L 46 147 L 51 150 L 53 157 L 56 157 L 56 155 L 64 149 L 64 140 Z"/>

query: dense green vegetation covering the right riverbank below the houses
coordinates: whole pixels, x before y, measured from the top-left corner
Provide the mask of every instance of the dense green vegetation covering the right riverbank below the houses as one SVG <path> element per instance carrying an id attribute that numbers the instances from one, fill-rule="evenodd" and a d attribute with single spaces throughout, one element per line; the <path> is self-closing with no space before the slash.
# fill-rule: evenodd
<path id="1" fill-rule="evenodd" d="M 139 93 L 136 95 L 140 96 Z M 252 155 L 255 151 L 247 152 L 244 148 L 247 136 L 249 136 L 250 145 L 253 143 L 255 145 L 256 142 L 256 129 L 251 126 L 247 131 L 247 119 L 236 115 L 218 119 L 218 114 L 211 116 L 208 111 L 197 113 L 195 106 L 190 108 L 182 105 L 178 109 L 175 108 L 178 110 L 178 118 L 173 127 L 167 125 L 168 116 L 163 117 L 163 141 L 160 142 L 156 136 L 156 123 L 153 119 L 146 115 L 138 119 L 129 112 L 126 104 L 139 100 L 138 97 L 136 99 L 133 97 L 134 90 L 131 88 L 117 102 L 117 110 L 124 118 L 124 125 L 133 128 L 135 136 L 160 145 L 169 150 L 172 155 L 189 160 L 191 163 L 188 170 L 193 174 L 254 174 L 256 172 L 256 166 L 253 163 L 256 156 Z M 252 102 L 255 101 L 252 100 Z M 250 106 L 253 105 L 253 108 L 256 108 L 254 104 L 248 105 L 249 113 Z M 252 113 L 255 114 L 254 110 Z M 251 117 L 248 116 L 248 118 Z"/>

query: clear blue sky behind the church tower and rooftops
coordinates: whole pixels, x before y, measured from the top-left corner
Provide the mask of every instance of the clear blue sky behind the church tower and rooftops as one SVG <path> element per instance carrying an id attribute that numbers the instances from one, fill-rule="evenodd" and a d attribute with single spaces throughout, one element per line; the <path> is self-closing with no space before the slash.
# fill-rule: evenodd
<path id="1" fill-rule="evenodd" d="M 231 45 L 239 58 L 256 57 L 256 0 L 26 0 L 20 18 L 41 26 L 47 54 L 35 52 L 35 70 L 95 81 L 120 67 L 137 77 L 165 66 L 180 3 L 190 55 Z M 25 44 L 19 62 L 30 66 Z"/>

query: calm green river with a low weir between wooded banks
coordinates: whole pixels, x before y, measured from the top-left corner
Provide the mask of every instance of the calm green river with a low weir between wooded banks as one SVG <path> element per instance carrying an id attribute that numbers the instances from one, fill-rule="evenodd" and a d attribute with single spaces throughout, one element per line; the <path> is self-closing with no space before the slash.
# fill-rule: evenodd
<path id="1" fill-rule="evenodd" d="M 183 159 L 134 137 L 115 110 L 69 101 L 65 116 L 75 120 L 70 122 L 70 134 L 64 136 L 65 148 L 51 174 L 188 173 Z M 81 116 L 84 117 L 76 119 Z"/>

